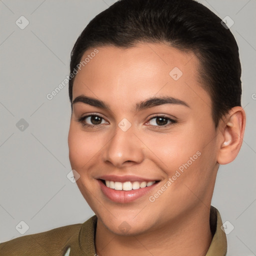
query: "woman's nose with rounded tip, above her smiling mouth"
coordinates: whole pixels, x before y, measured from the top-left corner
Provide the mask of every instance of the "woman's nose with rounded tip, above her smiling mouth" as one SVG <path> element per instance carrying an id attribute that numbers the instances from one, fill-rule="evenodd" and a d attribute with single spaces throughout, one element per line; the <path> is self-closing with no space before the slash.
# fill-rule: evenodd
<path id="1" fill-rule="evenodd" d="M 115 134 L 104 147 L 103 161 L 122 168 L 143 161 L 143 143 L 133 133 L 132 127 L 123 131 L 116 126 Z"/>

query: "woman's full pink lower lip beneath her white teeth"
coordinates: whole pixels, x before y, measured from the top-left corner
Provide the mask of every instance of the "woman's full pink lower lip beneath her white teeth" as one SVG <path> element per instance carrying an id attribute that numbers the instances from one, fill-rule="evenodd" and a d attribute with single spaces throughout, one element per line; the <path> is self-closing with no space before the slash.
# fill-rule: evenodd
<path id="1" fill-rule="evenodd" d="M 124 190 L 115 190 L 115 189 L 109 188 L 99 179 L 98 179 L 98 182 L 103 194 L 111 201 L 119 202 L 119 203 L 127 203 L 127 202 L 134 201 L 135 199 L 147 194 L 158 183 L 158 182 L 155 182 L 150 186 L 146 186 L 138 189 L 131 189 L 129 191 L 124 191 Z"/>

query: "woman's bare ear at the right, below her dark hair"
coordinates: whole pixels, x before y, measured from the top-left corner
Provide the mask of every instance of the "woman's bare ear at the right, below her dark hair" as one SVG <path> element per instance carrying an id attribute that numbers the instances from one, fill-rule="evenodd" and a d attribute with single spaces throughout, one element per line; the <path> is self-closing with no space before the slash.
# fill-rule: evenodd
<path id="1" fill-rule="evenodd" d="M 217 155 L 219 164 L 226 164 L 234 160 L 238 154 L 245 128 L 245 112 L 241 106 L 230 109 L 228 115 L 220 124 L 221 139 Z"/>

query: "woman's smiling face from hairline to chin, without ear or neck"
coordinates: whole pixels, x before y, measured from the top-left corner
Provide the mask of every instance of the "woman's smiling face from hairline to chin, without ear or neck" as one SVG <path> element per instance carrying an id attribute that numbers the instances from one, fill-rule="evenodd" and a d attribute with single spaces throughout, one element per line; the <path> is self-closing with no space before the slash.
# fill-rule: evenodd
<path id="1" fill-rule="evenodd" d="M 164 43 L 97 50 L 75 76 L 68 134 L 89 206 L 116 234 L 152 231 L 205 208 L 218 136 L 198 59 Z"/>

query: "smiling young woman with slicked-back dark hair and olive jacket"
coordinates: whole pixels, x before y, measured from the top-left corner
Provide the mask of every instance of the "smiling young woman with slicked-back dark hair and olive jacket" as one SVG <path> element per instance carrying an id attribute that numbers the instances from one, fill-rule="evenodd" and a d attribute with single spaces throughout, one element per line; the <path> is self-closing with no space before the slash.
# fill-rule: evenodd
<path id="1" fill-rule="evenodd" d="M 0 244 L 1 255 L 214 255 L 219 164 L 241 146 L 241 67 L 221 19 L 194 0 L 120 0 L 71 52 L 68 134 L 95 215 Z"/>

